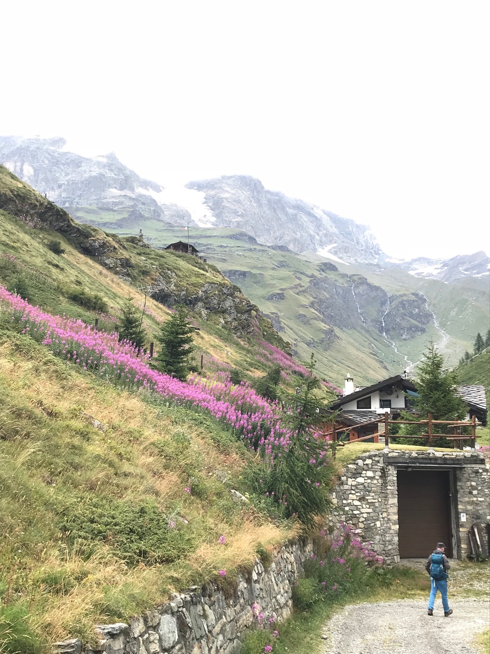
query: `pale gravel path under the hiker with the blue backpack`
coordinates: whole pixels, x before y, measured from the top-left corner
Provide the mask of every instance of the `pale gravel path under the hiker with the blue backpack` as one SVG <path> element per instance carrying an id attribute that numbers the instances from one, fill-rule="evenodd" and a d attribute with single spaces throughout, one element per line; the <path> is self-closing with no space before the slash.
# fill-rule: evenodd
<path id="1" fill-rule="evenodd" d="M 472 640 L 489 626 L 487 600 L 455 599 L 444 617 L 440 595 L 434 616 L 427 600 L 346 606 L 323 628 L 322 654 L 478 654 Z"/>

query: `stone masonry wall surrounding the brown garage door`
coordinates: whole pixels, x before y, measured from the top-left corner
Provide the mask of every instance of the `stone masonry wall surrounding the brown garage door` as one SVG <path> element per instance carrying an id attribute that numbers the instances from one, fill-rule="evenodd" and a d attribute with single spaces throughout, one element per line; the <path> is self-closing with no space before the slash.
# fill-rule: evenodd
<path id="1" fill-rule="evenodd" d="M 477 453 L 375 450 L 363 454 L 346 465 L 331 493 L 331 526 L 352 525 L 378 555 L 399 562 L 397 464 L 402 459 L 414 468 L 423 462 L 433 464 L 434 470 L 441 466 L 455 470 L 453 530 L 457 556 L 465 558 L 470 526 L 490 523 L 490 467 Z M 466 513 L 466 522 L 461 521 L 461 513 Z"/>

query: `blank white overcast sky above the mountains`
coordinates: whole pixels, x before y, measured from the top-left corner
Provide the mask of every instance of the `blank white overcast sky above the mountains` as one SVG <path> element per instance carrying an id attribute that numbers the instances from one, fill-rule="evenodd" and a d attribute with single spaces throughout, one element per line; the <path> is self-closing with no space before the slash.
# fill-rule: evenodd
<path id="1" fill-rule="evenodd" d="M 393 256 L 489 251 L 489 18 L 488 0 L 4 3 L 0 133 L 162 184 L 254 175 Z"/>

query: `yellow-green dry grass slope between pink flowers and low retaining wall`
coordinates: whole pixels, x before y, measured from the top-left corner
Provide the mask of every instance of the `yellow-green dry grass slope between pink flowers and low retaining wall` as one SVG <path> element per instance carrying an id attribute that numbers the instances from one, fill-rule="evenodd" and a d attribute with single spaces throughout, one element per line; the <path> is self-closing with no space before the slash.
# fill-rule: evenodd
<path id="1" fill-rule="evenodd" d="M 248 457 L 210 417 L 67 366 L 0 315 L 1 651 L 3 621 L 24 654 L 90 640 L 287 538 L 232 501 Z"/>

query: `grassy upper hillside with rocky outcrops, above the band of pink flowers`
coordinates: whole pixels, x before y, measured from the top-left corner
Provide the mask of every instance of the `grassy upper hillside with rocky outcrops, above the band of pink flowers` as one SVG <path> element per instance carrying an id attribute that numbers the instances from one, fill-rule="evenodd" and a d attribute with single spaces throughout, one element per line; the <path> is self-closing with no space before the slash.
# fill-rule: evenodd
<path id="1" fill-rule="evenodd" d="M 287 351 L 286 343 L 220 271 L 197 257 L 161 252 L 137 238 L 121 239 L 98 228 L 76 223 L 63 209 L 0 167 L 0 281 L 19 277 L 31 287 L 32 300 L 48 311 L 84 320 L 95 319 L 90 302 L 73 301 L 77 288 L 101 297 L 114 327 L 123 301 L 144 303 L 150 285 L 144 324 L 154 340 L 169 309 L 184 304 L 201 325 L 198 350 L 228 366 L 255 370 L 253 348 L 265 339 Z M 65 252 L 55 254 L 59 240 Z M 103 318 L 101 318 L 102 320 Z M 250 364 L 250 366 L 248 365 Z"/>

